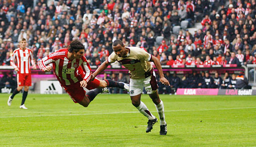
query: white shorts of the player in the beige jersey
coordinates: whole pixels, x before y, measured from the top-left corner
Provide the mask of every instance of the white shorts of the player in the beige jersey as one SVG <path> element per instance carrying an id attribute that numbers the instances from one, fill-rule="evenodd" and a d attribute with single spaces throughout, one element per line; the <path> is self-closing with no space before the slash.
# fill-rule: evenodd
<path id="1" fill-rule="evenodd" d="M 158 85 L 155 79 L 154 71 L 151 76 L 145 79 L 130 79 L 130 82 L 129 82 L 130 96 L 137 96 L 141 94 L 144 87 L 147 94 L 153 94 L 156 92 Z"/>

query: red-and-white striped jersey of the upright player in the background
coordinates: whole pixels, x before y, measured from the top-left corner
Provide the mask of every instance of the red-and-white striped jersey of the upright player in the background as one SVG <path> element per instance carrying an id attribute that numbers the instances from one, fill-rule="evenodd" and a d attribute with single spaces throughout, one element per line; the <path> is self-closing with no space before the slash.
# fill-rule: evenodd
<path id="1" fill-rule="evenodd" d="M 14 63 L 14 61 L 16 60 L 16 64 Z M 10 64 L 13 68 L 18 67 L 18 73 L 21 74 L 30 74 L 31 70 L 30 70 L 30 64 L 29 62 L 31 62 L 32 65 L 35 64 L 34 62 L 34 58 L 33 58 L 33 54 L 32 54 L 32 50 L 31 49 L 15 49 L 13 51 L 12 56 L 10 57 Z"/>

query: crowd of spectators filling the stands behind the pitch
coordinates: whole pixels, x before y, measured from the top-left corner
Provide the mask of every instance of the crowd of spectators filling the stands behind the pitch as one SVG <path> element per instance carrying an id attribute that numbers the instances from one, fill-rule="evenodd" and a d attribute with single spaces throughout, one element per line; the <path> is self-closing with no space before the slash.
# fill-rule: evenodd
<path id="1" fill-rule="evenodd" d="M 0 0 L 0 65 L 9 65 L 20 38 L 36 60 L 74 39 L 91 65 L 112 52 L 113 40 L 145 49 L 162 65 L 256 63 L 256 0 Z M 76 0 L 77 1 L 77 0 Z M 194 35 L 170 31 L 201 22 Z M 155 38 L 163 36 L 158 47 Z"/>

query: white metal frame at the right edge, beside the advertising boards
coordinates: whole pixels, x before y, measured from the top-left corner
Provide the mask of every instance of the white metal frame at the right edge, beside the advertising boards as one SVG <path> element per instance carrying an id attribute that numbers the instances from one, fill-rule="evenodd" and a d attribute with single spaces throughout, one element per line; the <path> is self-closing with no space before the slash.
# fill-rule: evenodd
<path id="1" fill-rule="evenodd" d="M 247 64 L 245 75 L 248 78 L 249 85 L 256 86 L 256 64 Z"/>

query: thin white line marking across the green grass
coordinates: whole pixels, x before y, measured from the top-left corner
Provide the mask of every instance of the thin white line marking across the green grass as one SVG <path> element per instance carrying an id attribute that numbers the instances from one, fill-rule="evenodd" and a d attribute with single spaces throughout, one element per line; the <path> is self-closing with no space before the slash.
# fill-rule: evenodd
<path id="1" fill-rule="evenodd" d="M 217 108 L 217 109 L 198 109 L 198 110 L 167 110 L 164 112 L 179 112 L 179 111 L 209 111 L 209 110 L 232 110 L 232 109 L 254 109 L 256 107 L 240 107 L 240 108 Z M 156 112 L 156 111 L 151 111 Z M 37 112 L 42 113 L 42 112 Z M 55 113 L 55 112 L 51 112 Z M 57 112 L 58 113 L 58 112 Z M 68 112 L 70 113 L 70 112 Z M 77 116 L 77 115 L 102 115 L 102 114 L 125 114 L 125 113 L 139 113 L 139 111 L 128 112 L 108 112 L 108 113 L 86 113 L 86 114 L 60 114 L 60 115 L 30 115 L 30 116 L 2 116 L 0 118 L 14 118 L 14 117 L 48 117 L 48 116 Z"/>

